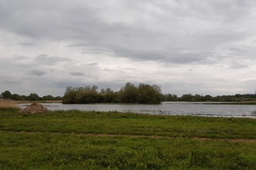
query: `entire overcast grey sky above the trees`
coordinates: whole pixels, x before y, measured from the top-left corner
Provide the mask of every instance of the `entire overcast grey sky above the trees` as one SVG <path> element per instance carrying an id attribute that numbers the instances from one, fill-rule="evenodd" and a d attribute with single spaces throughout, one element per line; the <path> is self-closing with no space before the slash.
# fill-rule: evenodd
<path id="1" fill-rule="evenodd" d="M 0 0 L 0 93 L 256 90 L 254 0 Z"/>

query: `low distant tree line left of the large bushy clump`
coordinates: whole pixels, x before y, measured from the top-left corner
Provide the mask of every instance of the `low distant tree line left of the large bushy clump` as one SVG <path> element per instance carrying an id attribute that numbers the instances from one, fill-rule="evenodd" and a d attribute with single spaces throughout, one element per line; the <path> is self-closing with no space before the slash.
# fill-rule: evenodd
<path id="1" fill-rule="evenodd" d="M 52 95 L 47 95 L 40 97 L 36 93 L 30 93 L 28 96 L 19 95 L 17 93 L 11 93 L 9 90 L 5 90 L 1 93 L 1 98 L 9 100 L 62 100 L 62 97 L 53 97 Z"/>

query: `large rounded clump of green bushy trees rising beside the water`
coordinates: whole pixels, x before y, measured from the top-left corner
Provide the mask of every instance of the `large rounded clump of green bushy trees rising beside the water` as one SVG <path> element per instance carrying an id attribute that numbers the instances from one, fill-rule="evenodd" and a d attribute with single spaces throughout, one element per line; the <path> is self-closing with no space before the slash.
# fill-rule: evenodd
<path id="1" fill-rule="evenodd" d="M 140 83 L 126 83 L 119 91 L 110 88 L 98 91 L 97 86 L 67 87 L 62 100 L 63 104 L 95 104 L 95 103 L 123 103 L 123 104 L 161 104 L 161 87 Z"/>

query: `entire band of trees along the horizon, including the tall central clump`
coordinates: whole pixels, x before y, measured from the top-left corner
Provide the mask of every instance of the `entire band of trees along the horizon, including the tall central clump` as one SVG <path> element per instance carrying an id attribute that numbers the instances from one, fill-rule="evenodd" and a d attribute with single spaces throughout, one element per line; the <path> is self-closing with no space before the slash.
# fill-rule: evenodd
<path id="1" fill-rule="evenodd" d="M 64 97 L 53 97 L 51 95 L 39 97 L 36 93 L 28 96 L 11 93 L 5 90 L 0 98 L 10 100 L 62 100 L 63 104 L 95 104 L 95 103 L 124 103 L 124 104 L 161 104 L 162 101 L 247 101 L 256 100 L 256 94 L 235 94 L 212 97 L 200 94 L 183 94 L 178 97 L 176 94 L 162 94 L 161 87 L 140 83 L 135 86 L 133 83 L 126 83 L 119 91 L 114 92 L 110 88 L 98 90 L 97 86 L 67 87 Z"/>

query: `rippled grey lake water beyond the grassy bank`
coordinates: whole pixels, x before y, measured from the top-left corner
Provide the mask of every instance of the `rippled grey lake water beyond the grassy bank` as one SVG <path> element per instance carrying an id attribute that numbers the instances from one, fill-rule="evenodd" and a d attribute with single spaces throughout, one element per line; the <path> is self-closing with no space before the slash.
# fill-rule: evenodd
<path id="1" fill-rule="evenodd" d="M 28 104 L 19 104 L 24 108 Z M 43 104 L 49 110 L 120 111 L 138 114 L 192 115 L 209 117 L 256 117 L 256 105 L 163 102 L 162 104 Z M 254 113 L 254 114 L 253 114 Z"/>

